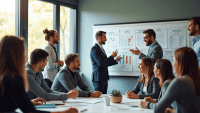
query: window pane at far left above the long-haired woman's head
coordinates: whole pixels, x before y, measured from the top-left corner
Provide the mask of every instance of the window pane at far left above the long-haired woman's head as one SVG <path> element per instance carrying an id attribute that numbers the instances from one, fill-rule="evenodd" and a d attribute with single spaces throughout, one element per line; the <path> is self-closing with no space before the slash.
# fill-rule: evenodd
<path id="1" fill-rule="evenodd" d="M 15 1 L 0 2 L 0 39 L 5 35 L 15 35 Z"/>

